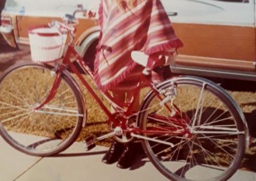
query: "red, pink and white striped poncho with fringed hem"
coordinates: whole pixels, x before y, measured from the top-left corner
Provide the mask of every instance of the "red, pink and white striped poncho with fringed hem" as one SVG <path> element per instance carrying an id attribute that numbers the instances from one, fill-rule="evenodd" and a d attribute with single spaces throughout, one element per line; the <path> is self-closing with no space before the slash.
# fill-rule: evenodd
<path id="1" fill-rule="evenodd" d="M 147 55 L 182 47 L 159 0 L 144 0 L 124 10 L 112 0 L 99 6 L 100 41 L 95 59 L 95 80 L 99 89 L 122 87 L 127 91 L 138 83 L 143 68 L 131 59 L 133 50 Z"/>

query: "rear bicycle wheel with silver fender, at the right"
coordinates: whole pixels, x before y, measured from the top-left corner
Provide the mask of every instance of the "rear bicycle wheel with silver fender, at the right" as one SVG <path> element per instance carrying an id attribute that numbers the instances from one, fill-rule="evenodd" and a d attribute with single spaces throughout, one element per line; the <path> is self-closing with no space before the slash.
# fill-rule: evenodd
<path id="1" fill-rule="evenodd" d="M 243 113 L 209 80 L 172 78 L 144 99 L 138 123 L 150 161 L 171 180 L 227 180 L 245 149 Z"/>

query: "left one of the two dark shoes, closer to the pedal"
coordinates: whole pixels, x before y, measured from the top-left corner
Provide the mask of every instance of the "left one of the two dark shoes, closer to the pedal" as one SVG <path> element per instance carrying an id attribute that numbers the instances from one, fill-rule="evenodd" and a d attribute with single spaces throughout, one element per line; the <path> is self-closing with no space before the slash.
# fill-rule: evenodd
<path id="1" fill-rule="evenodd" d="M 124 151 L 124 144 L 113 141 L 110 145 L 108 152 L 102 158 L 102 162 L 112 164 L 118 161 L 120 155 Z"/>

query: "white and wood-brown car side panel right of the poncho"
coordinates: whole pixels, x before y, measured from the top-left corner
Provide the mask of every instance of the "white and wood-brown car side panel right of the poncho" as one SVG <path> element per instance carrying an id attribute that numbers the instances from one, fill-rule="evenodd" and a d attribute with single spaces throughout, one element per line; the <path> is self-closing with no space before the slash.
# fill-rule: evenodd
<path id="1" fill-rule="evenodd" d="M 236 71 L 254 75 L 254 0 L 162 0 L 162 3 L 184 42 L 172 64 L 174 72 L 198 75 L 207 72 L 231 78 L 237 78 L 232 75 Z"/>

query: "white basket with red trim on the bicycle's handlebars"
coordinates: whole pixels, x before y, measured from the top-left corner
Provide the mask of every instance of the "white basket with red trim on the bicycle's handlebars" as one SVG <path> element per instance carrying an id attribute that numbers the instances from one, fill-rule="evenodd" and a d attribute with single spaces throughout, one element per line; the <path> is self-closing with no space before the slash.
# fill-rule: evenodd
<path id="1" fill-rule="evenodd" d="M 51 62 L 63 55 L 67 34 L 60 33 L 48 25 L 29 29 L 31 59 L 34 62 Z"/>

